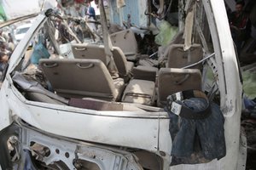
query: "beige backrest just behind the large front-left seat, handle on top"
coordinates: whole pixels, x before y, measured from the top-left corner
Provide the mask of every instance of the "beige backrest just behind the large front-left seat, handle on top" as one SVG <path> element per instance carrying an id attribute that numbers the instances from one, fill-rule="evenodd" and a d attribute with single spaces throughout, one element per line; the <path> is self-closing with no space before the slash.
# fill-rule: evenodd
<path id="1" fill-rule="evenodd" d="M 107 65 L 107 57 L 104 51 L 104 46 L 84 43 L 72 44 L 73 57 L 75 59 L 100 59 Z"/>

